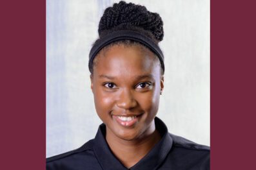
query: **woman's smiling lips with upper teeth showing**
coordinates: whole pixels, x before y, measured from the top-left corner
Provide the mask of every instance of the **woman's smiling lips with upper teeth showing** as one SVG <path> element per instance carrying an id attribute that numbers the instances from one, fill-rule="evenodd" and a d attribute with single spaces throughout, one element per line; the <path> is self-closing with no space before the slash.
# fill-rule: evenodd
<path id="1" fill-rule="evenodd" d="M 112 117 L 125 128 L 130 128 L 134 126 L 141 115 L 112 115 Z"/>

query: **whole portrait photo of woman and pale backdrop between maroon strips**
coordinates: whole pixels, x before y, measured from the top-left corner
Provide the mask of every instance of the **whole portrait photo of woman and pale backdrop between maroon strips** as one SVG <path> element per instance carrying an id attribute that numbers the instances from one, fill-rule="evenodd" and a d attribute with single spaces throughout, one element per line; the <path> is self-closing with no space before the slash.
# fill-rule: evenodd
<path id="1" fill-rule="evenodd" d="M 210 1 L 46 1 L 46 158 L 210 169 Z"/>

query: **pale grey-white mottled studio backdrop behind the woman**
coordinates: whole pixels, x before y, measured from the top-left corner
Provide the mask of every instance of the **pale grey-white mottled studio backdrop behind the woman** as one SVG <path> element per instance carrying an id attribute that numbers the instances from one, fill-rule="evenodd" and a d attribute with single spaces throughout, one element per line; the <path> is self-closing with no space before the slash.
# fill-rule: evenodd
<path id="1" fill-rule="evenodd" d="M 79 148 L 101 120 L 88 53 L 104 8 L 119 1 L 46 1 L 46 157 Z M 210 145 L 210 0 L 137 0 L 164 21 L 164 92 L 158 116 L 170 133 Z"/>

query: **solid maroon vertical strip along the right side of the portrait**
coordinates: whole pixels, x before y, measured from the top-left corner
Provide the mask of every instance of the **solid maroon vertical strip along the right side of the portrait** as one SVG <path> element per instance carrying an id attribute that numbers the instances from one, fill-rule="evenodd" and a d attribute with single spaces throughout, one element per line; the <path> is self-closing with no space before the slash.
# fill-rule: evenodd
<path id="1" fill-rule="evenodd" d="M 211 1 L 211 169 L 255 168 L 255 16 L 255 1 Z"/>

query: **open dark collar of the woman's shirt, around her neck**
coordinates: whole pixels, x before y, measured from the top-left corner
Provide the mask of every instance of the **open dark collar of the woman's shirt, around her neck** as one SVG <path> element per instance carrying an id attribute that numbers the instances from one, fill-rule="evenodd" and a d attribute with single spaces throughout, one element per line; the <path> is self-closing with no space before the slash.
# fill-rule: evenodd
<path id="1" fill-rule="evenodd" d="M 166 125 L 159 119 L 155 117 L 155 128 L 161 134 L 161 140 L 153 146 L 149 153 L 143 157 L 137 164 L 131 167 L 131 170 L 140 169 L 157 169 L 164 161 L 164 158 L 168 155 L 170 149 L 172 148 L 172 138 L 168 133 Z M 104 170 L 124 170 L 126 167 L 119 162 L 119 160 L 113 155 L 110 150 L 106 139 L 106 126 L 101 124 L 99 130 L 95 137 L 94 142 L 94 153 L 99 161 L 99 164 Z"/>

